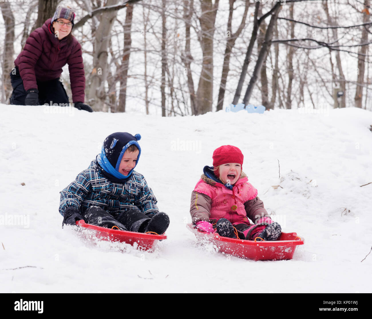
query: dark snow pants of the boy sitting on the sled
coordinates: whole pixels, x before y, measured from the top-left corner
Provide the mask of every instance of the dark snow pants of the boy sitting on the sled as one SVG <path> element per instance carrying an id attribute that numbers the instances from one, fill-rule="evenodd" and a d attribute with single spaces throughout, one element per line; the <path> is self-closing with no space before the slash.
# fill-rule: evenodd
<path id="1" fill-rule="evenodd" d="M 126 210 L 118 213 L 115 218 L 106 210 L 100 207 L 89 207 L 83 218 L 86 223 L 106 228 L 117 226 L 122 230 L 130 232 L 143 232 L 150 220 L 150 217 L 141 212 L 138 208 Z"/>

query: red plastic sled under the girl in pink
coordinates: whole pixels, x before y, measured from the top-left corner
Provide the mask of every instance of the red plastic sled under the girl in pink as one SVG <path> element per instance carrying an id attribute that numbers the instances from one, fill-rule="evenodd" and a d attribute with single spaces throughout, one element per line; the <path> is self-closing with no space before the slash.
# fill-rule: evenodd
<path id="1" fill-rule="evenodd" d="M 288 260 L 292 259 L 297 245 L 304 244 L 304 238 L 296 233 L 282 233 L 276 241 L 251 241 L 219 236 L 218 233 L 206 233 L 186 225 L 197 239 L 212 242 L 224 254 L 253 260 Z"/>

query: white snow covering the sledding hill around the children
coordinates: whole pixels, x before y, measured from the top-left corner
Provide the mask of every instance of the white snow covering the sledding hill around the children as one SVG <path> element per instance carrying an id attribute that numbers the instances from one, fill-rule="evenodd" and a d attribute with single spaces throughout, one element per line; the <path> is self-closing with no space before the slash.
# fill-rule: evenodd
<path id="1" fill-rule="evenodd" d="M 1 293 L 372 291 L 372 254 L 366 257 L 372 184 L 360 187 L 372 181 L 371 112 L 350 107 L 158 117 L 0 107 Z M 170 215 L 168 238 L 153 253 L 94 245 L 71 227 L 61 228 L 59 191 L 117 131 L 141 134 L 136 170 Z M 191 191 L 203 166 L 212 164 L 214 149 L 226 144 L 243 151 L 243 171 L 282 230 L 305 239 L 292 260 L 224 255 L 187 231 Z M 12 220 L 17 225 L 9 225 Z M 275 280 L 263 284 L 265 278 Z"/>

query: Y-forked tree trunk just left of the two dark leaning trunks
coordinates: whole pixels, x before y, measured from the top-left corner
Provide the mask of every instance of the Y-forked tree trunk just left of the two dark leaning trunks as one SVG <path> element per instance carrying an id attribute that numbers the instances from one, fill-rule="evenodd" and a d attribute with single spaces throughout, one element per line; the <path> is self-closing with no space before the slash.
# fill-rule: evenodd
<path id="1" fill-rule="evenodd" d="M 229 7 L 229 17 L 227 22 L 227 41 L 226 41 L 226 48 L 225 48 L 225 55 L 224 55 L 224 64 L 222 67 L 222 75 L 221 75 L 221 83 L 219 85 L 219 92 L 218 92 L 218 101 L 217 101 L 217 111 L 222 110 L 224 106 L 224 97 L 225 97 L 225 90 L 226 90 L 226 82 L 227 82 L 227 75 L 230 71 L 230 55 L 232 48 L 234 48 L 235 41 L 239 37 L 241 31 L 243 30 L 244 26 L 246 25 L 246 17 L 249 8 L 249 1 L 246 1 L 246 6 L 244 9 L 243 17 L 241 19 L 240 25 L 237 29 L 237 32 L 232 34 L 231 22 L 232 22 L 232 14 L 234 13 L 234 3 L 236 0 L 229 0 L 230 7 Z"/>

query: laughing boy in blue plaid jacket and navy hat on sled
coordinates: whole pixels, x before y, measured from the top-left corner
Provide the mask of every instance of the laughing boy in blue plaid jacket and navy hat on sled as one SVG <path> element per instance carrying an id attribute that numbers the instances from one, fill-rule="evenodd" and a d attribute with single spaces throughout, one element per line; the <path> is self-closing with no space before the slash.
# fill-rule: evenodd
<path id="1" fill-rule="evenodd" d="M 143 175 L 134 171 L 141 155 L 135 136 L 126 132 L 109 135 L 90 166 L 60 192 L 63 225 L 77 220 L 131 232 L 163 234 L 169 217 L 159 212 L 157 200 Z"/>

